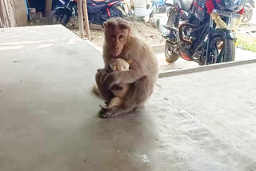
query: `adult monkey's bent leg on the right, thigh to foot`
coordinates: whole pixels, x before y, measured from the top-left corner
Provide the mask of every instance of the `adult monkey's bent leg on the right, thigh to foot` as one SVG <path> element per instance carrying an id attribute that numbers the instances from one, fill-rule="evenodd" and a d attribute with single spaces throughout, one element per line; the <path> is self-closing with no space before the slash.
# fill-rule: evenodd
<path id="1" fill-rule="evenodd" d="M 109 118 L 122 113 L 129 113 L 133 109 L 141 108 L 150 97 L 154 89 L 154 84 L 148 77 L 140 78 L 131 86 L 122 106 L 114 106 L 108 109 L 106 113 L 102 113 L 100 117 Z"/>

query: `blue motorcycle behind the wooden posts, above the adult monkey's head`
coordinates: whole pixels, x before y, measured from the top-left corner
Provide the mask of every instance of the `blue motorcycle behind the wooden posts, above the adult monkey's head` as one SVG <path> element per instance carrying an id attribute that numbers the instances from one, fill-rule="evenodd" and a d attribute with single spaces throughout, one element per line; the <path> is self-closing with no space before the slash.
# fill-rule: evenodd
<path id="1" fill-rule="evenodd" d="M 58 0 L 60 5 L 55 6 L 51 12 L 50 22 L 51 24 L 66 24 L 70 21 L 70 18 L 78 18 L 77 0 Z M 96 2 L 93 0 L 87 0 L 87 10 L 89 22 L 102 25 L 109 18 L 123 18 L 122 11 L 118 10 L 117 6 L 121 5 L 121 0 L 102 1 Z"/>

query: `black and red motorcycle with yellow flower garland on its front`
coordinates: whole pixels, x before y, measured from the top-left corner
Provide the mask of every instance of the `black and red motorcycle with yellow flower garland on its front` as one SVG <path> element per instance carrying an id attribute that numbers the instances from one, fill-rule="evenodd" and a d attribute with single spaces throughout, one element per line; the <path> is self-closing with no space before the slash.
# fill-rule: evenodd
<path id="1" fill-rule="evenodd" d="M 179 57 L 201 66 L 234 61 L 233 30 L 241 19 L 243 6 L 244 0 L 193 0 L 189 9 L 182 0 L 175 0 L 164 26 L 168 30 L 163 35 L 166 62 L 175 62 Z"/>

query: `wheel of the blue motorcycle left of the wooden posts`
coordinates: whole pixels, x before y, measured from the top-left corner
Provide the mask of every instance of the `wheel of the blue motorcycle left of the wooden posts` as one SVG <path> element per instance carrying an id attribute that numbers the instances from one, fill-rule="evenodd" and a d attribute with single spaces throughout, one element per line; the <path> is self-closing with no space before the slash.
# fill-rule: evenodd
<path id="1" fill-rule="evenodd" d="M 53 10 L 50 14 L 50 23 L 51 24 L 62 24 L 66 26 L 66 24 L 70 22 L 70 14 L 68 14 L 65 10 Z"/>

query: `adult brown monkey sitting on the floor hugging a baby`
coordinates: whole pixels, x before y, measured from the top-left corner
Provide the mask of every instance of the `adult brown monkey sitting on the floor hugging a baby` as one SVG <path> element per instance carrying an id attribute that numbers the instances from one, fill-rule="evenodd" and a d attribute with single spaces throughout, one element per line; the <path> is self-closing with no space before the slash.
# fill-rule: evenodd
<path id="1" fill-rule="evenodd" d="M 158 78 L 158 61 L 150 46 L 132 33 L 130 22 L 122 18 L 111 18 L 104 23 L 104 26 L 106 28 L 103 46 L 105 68 L 98 70 L 96 74 L 98 91 L 106 103 L 109 103 L 113 97 L 110 90 L 113 85 L 130 84 L 122 106 L 100 111 L 100 117 L 107 118 L 144 106 L 153 93 Z M 132 61 L 130 70 L 112 72 L 109 66 L 111 58 Z"/>

